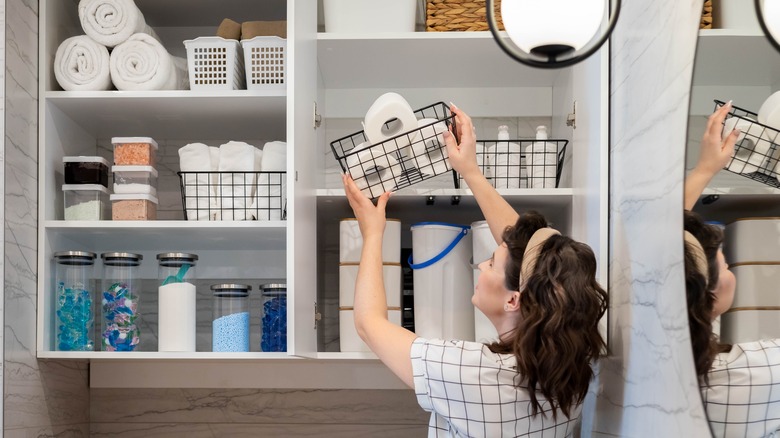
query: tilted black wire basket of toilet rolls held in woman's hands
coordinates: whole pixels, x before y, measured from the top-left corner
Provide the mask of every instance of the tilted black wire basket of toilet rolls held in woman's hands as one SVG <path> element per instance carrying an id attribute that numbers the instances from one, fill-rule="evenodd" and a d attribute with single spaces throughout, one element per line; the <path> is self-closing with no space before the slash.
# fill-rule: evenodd
<path id="1" fill-rule="evenodd" d="M 370 145 L 364 131 L 356 132 L 330 144 L 341 169 L 369 198 L 395 191 L 430 178 L 449 173 L 457 187 L 457 177 L 450 166 L 441 133 L 456 132 L 455 116 L 439 102 L 414 112 L 418 128 Z M 430 121 L 420 122 L 426 119 Z M 435 120 L 434 120 L 435 119 Z M 385 124 L 389 131 L 391 120 Z"/>

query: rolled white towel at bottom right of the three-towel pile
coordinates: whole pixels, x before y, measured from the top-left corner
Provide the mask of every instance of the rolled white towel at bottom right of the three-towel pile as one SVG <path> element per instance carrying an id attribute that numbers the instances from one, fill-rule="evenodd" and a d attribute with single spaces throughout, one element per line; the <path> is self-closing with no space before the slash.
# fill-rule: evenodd
<path id="1" fill-rule="evenodd" d="M 187 60 L 171 56 L 159 41 L 137 33 L 111 52 L 111 80 L 118 90 L 186 90 Z"/>

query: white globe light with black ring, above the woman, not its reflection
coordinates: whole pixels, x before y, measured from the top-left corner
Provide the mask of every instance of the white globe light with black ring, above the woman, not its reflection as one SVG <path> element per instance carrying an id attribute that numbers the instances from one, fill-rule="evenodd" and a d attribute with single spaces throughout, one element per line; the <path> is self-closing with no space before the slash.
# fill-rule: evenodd
<path id="1" fill-rule="evenodd" d="M 562 68 L 588 58 L 609 38 L 620 12 L 620 0 L 612 1 L 606 30 L 597 36 L 608 2 L 501 0 L 501 20 L 511 43 L 499 33 L 495 0 L 486 0 L 487 21 L 499 47 L 516 61 L 531 67 Z"/>

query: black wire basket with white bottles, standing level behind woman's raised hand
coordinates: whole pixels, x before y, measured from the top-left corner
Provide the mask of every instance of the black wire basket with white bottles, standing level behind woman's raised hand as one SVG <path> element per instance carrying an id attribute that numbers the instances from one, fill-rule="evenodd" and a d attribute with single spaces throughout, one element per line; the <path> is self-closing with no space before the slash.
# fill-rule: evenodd
<path id="1" fill-rule="evenodd" d="M 477 140 L 477 164 L 497 189 L 556 188 L 568 140 Z M 459 186 L 463 177 L 458 175 Z"/>

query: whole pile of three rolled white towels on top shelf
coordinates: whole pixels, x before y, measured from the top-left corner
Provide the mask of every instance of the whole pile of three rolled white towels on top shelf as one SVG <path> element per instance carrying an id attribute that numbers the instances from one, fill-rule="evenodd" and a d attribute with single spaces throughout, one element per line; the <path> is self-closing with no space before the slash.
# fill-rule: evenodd
<path id="1" fill-rule="evenodd" d="M 189 88 L 187 60 L 168 53 L 133 0 L 80 0 L 78 9 L 86 35 L 63 41 L 54 57 L 63 90 Z"/>

